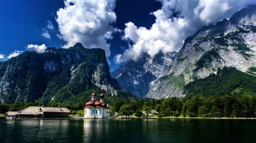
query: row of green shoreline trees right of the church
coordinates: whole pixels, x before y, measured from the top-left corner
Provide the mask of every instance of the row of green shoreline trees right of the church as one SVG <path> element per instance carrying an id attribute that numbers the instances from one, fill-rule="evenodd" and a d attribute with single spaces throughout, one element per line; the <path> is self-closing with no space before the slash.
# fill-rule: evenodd
<path id="1" fill-rule="evenodd" d="M 255 96 L 193 96 L 192 98 L 171 97 L 167 99 L 131 100 L 115 108 L 119 115 L 142 116 L 155 110 L 158 117 L 256 117 Z"/>

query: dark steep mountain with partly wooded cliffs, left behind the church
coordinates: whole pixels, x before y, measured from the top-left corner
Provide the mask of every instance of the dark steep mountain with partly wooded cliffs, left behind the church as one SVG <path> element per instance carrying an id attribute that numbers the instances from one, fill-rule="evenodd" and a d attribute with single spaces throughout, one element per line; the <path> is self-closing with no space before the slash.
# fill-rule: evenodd
<path id="1" fill-rule="evenodd" d="M 116 96 L 120 88 L 109 71 L 104 50 L 85 49 L 80 43 L 44 53 L 26 51 L 0 63 L 0 100 L 73 103 L 92 90 Z"/>

